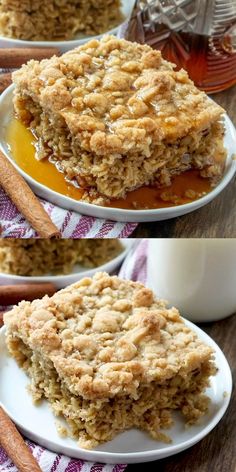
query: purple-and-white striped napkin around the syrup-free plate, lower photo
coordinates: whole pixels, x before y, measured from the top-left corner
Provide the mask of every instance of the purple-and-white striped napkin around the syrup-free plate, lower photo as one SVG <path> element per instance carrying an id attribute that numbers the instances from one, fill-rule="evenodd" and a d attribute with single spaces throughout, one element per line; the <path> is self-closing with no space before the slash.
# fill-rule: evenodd
<path id="1" fill-rule="evenodd" d="M 147 248 L 148 240 L 146 239 L 133 246 L 120 269 L 120 277 L 142 283 L 146 282 Z M 84 460 L 70 459 L 61 454 L 50 452 L 31 441 L 27 441 L 27 444 L 43 472 L 123 472 L 126 469 L 125 464 L 97 464 Z M 0 472 L 17 472 L 16 467 L 1 448 Z"/>

